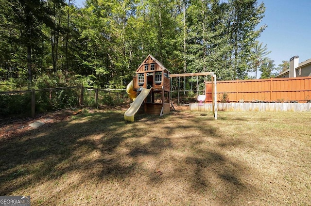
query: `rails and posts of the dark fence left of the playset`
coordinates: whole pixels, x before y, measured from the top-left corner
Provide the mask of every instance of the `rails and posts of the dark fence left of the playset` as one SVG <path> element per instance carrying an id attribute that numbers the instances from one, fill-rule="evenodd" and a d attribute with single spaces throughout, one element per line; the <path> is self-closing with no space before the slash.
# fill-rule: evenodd
<path id="1" fill-rule="evenodd" d="M 65 90 L 65 89 L 80 89 L 80 94 L 78 96 L 78 98 L 79 98 L 78 102 L 79 103 L 78 103 L 78 105 L 76 105 L 76 106 L 80 106 L 80 107 L 84 106 L 86 98 L 88 98 L 88 97 L 91 98 L 91 92 L 92 91 L 95 92 L 94 99 L 95 99 L 96 105 L 98 105 L 99 91 L 107 92 L 108 95 L 110 95 L 110 93 L 116 93 L 118 104 L 120 102 L 120 91 L 123 91 L 123 93 L 125 93 L 125 89 L 98 89 L 98 88 L 92 88 L 92 87 L 72 86 L 72 87 L 58 87 L 58 88 L 45 88 L 45 89 L 32 89 L 32 90 L 0 92 L 0 95 L 31 93 L 31 116 L 35 117 L 35 107 L 36 107 L 35 94 L 36 94 L 36 92 L 49 91 L 50 92 L 50 98 L 51 98 L 52 91 L 59 91 L 59 90 Z M 87 92 L 86 92 L 86 90 L 87 90 Z M 87 96 L 85 96 L 86 94 L 87 94 Z"/>

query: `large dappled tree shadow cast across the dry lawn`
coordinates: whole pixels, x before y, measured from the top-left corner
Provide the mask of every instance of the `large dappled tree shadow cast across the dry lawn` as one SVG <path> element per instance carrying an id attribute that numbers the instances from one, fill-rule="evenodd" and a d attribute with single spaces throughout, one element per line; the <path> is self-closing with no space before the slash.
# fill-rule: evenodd
<path id="1" fill-rule="evenodd" d="M 140 114 L 136 122 L 129 124 L 123 120 L 121 112 L 99 112 L 1 140 L 0 195 L 12 195 L 71 172 L 83 174 L 75 185 L 93 178 L 119 180 L 141 173 L 149 177 L 150 185 L 164 184 L 172 179 L 184 181 L 189 194 L 214 190 L 213 178 L 218 178 L 226 192 L 220 197 L 215 194 L 215 198 L 220 203 L 224 203 L 224 197 L 226 201 L 234 201 L 239 198 L 235 192 L 237 189 L 247 193 L 250 186 L 240 181 L 244 173 L 241 165 L 206 145 L 202 148 L 209 139 L 223 138 L 218 128 L 209 125 L 207 119 L 180 113 L 163 117 Z M 170 125 L 172 121 L 175 122 L 173 126 Z M 164 136 L 158 135 L 155 127 Z M 147 141 L 141 141 L 142 138 Z M 221 143 L 220 146 L 232 144 L 225 140 Z M 241 142 L 232 145 L 235 144 Z M 178 149 L 188 152 L 178 161 L 166 157 Z M 170 161 L 173 161 L 172 165 L 178 162 L 180 165 L 173 166 L 173 173 L 150 174 L 147 169 L 141 171 L 147 156 L 162 158 L 155 164 L 155 169 L 170 167 Z M 54 194 L 49 201 L 56 199 Z"/>

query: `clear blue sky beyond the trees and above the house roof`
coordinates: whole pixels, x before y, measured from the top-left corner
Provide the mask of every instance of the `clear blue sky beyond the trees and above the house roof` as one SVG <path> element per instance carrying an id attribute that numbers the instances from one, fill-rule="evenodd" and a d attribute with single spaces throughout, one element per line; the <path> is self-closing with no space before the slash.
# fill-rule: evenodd
<path id="1" fill-rule="evenodd" d="M 85 0 L 75 0 L 79 7 Z M 289 61 L 299 56 L 299 63 L 311 59 L 311 0 L 258 0 L 266 7 L 259 25 L 267 25 L 259 42 L 271 51 L 267 57 L 275 61 Z"/>

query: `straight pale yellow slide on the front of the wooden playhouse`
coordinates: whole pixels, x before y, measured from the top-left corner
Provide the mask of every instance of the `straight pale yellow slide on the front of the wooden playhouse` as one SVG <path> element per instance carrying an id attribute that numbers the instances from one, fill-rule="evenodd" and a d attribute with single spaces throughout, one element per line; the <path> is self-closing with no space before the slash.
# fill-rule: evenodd
<path id="1" fill-rule="evenodd" d="M 132 82 L 130 82 L 130 83 L 132 83 Z M 140 94 L 136 98 L 134 98 L 134 102 L 131 104 L 131 107 L 124 113 L 124 120 L 134 122 L 134 115 L 136 114 L 141 103 L 148 96 L 150 91 L 151 91 L 151 89 L 145 89 L 145 88 L 142 89 Z"/>

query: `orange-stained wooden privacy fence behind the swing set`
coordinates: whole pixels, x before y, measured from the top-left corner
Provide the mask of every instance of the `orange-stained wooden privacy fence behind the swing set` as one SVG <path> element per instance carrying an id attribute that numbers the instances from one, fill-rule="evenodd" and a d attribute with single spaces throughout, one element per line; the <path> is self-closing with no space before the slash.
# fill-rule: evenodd
<path id="1" fill-rule="evenodd" d="M 217 100 L 229 102 L 309 102 L 311 77 L 217 81 Z M 206 100 L 212 101 L 212 84 L 206 83 Z"/>

